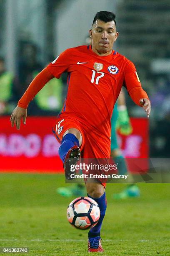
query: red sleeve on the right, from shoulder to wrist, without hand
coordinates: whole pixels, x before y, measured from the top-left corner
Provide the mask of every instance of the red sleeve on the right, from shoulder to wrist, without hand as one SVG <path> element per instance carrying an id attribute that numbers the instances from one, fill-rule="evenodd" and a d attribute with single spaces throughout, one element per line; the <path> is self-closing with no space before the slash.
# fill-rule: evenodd
<path id="1" fill-rule="evenodd" d="M 128 62 L 125 69 L 124 86 L 135 104 L 141 106 L 139 100 L 142 98 L 147 98 L 149 100 L 147 93 L 141 86 L 135 65 L 131 61 Z"/>

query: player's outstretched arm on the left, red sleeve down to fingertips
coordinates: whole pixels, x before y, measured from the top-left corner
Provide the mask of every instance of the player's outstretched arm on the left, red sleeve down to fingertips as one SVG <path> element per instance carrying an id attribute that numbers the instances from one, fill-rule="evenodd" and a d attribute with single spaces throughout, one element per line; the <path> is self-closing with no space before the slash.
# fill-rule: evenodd
<path id="1" fill-rule="evenodd" d="M 50 79 L 56 77 L 60 78 L 60 75 L 67 70 L 68 67 L 68 56 L 67 52 L 69 49 L 60 54 L 52 63 L 50 63 L 45 69 L 43 69 L 37 76 L 32 80 L 28 89 L 24 95 L 18 101 L 17 107 L 13 110 L 10 117 L 12 127 L 14 124 L 16 128 L 20 129 L 20 123 L 23 119 L 23 123 L 26 123 L 27 108 L 28 104 L 35 97 L 35 95 L 50 81 Z"/>

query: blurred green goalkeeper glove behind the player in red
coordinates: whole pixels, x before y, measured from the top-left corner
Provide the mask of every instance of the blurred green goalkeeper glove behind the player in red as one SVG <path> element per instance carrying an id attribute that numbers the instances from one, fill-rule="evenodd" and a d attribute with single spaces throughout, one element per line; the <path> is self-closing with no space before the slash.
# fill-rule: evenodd
<path id="1" fill-rule="evenodd" d="M 122 135 L 130 135 L 133 131 L 132 125 L 130 123 L 130 118 L 128 115 L 128 111 L 125 110 L 118 110 L 118 118 L 116 122 L 116 128 L 120 131 Z"/>

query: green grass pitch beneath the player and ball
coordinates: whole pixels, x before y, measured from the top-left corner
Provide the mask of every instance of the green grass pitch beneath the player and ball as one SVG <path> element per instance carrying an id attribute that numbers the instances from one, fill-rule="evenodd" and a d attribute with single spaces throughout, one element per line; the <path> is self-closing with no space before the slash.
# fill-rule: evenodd
<path id="1" fill-rule="evenodd" d="M 0 247 L 28 247 L 28 254 L 19 255 L 29 256 L 89 255 L 87 230 L 66 219 L 74 198 L 56 193 L 64 185 L 61 174 L 1 173 Z M 139 184 L 140 198 L 113 200 L 123 187 L 107 184 L 102 255 L 170 255 L 170 184 Z"/>

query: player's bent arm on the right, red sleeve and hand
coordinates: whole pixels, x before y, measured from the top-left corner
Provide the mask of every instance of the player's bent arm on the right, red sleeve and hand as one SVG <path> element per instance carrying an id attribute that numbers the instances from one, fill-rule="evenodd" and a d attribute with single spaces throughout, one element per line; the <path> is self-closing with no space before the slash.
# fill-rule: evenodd
<path id="1" fill-rule="evenodd" d="M 135 65 L 131 61 L 128 62 L 125 70 L 124 83 L 132 100 L 135 104 L 143 107 L 147 114 L 147 118 L 149 118 L 151 110 L 150 100 L 147 93 L 141 86 Z"/>

